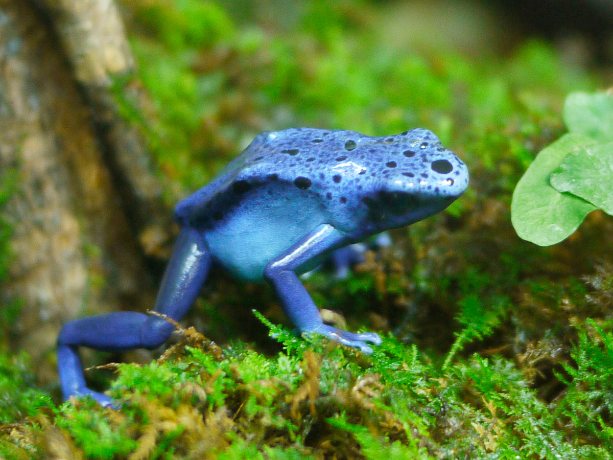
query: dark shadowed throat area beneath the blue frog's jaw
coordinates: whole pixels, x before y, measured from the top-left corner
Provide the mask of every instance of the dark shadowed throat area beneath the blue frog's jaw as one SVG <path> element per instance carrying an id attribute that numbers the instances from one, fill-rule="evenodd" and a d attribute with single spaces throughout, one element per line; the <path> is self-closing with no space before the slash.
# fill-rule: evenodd
<path id="1" fill-rule="evenodd" d="M 403 191 L 380 191 L 375 197 L 364 197 L 368 219 L 377 224 L 401 227 L 433 215 L 449 206 L 455 197 L 427 199 Z"/>

